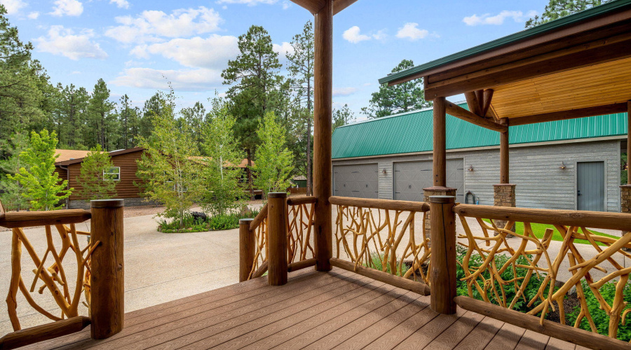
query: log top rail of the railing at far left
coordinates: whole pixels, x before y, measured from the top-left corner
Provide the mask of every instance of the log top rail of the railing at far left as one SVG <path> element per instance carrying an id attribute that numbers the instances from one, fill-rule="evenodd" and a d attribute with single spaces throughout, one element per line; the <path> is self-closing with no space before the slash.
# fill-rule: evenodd
<path id="1" fill-rule="evenodd" d="M 19 211 L 0 215 L 0 226 L 4 228 L 32 228 L 34 226 L 83 223 L 92 217 L 90 211 L 65 209 L 54 211 Z"/>

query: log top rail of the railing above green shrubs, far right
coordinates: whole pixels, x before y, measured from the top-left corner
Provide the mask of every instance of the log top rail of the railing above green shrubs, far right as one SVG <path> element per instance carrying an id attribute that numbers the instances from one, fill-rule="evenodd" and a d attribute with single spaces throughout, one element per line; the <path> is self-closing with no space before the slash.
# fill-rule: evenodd
<path id="1" fill-rule="evenodd" d="M 602 211 L 529 209 L 459 204 L 454 212 L 472 218 L 631 231 L 631 215 Z"/>

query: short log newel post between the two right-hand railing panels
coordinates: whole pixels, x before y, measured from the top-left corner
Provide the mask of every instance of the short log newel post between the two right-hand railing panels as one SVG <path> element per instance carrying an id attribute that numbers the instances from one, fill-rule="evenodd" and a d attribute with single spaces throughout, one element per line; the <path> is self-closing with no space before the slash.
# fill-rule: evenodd
<path id="1" fill-rule="evenodd" d="M 456 197 L 431 196 L 430 307 L 440 314 L 455 314 L 456 303 Z"/>

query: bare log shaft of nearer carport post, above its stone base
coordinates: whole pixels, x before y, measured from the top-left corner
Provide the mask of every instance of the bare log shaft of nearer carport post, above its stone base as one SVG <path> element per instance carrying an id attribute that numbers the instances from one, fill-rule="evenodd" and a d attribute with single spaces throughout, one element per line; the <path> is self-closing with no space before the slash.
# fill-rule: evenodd
<path id="1" fill-rule="evenodd" d="M 445 122 L 445 97 L 434 99 L 434 149 L 432 186 L 447 186 L 447 128 Z"/>

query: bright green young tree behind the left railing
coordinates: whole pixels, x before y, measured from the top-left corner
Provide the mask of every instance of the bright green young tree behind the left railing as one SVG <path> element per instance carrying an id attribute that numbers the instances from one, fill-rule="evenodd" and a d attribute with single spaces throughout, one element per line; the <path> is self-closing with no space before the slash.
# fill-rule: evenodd
<path id="1" fill-rule="evenodd" d="M 72 193 L 72 188 L 66 189 L 68 181 L 62 181 L 55 172 L 56 146 L 55 132 L 31 132 L 29 147 L 21 153 L 25 166 L 15 176 L 8 175 L 9 179 L 20 181 L 25 189 L 22 197 L 30 201 L 33 210 L 62 209 L 61 201 Z"/>

